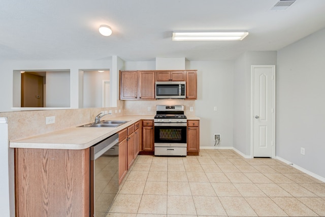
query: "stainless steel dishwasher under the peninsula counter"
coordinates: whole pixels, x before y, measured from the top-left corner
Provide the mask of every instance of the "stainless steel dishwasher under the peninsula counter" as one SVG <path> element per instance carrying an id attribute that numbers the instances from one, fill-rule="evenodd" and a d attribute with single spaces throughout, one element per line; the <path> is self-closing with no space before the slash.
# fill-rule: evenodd
<path id="1" fill-rule="evenodd" d="M 105 216 L 118 192 L 118 134 L 90 147 L 90 216 Z"/>

